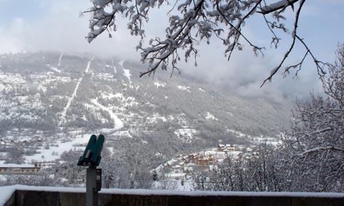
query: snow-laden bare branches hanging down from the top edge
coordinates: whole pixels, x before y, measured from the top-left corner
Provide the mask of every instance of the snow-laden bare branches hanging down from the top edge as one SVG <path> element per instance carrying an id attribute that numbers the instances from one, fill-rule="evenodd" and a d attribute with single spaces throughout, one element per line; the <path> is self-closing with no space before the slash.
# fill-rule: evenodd
<path id="1" fill-rule="evenodd" d="M 301 67 L 305 57 L 310 55 L 316 63 L 319 74 L 323 74 L 321 62 L 314 58 L 305 41 L 297 34 L 299 15 L 305 0 L 94 0 L 92 3 L 92 8 L 86 11 L 92 14 L 87 41 L 90 43 L 105 31 L 109 32 L 111 37 L 111 31 L 116 31 L 116 16 L 122 14 L 128 19 L 127 26 L 131 34 L 142 37 L 137 49 L 141 51 L 141 60 L 149 62 L 149 69 L 142 72 L 141 76 L 154 73 L 158 67 L 166 70 L 170 65 L 172 71 L 178 70 L 176 64 L 182 58 L 178 52 L 184 49 L 185 60 L 191 56 L 196 58 L 198 43 L 202 40 L 209 43 L 211 36 L 222 40 L 228 60 L 235 49 L 241 50 L 245 44 L 249 45 L 256 55 L 262 54 L 264 47 L 253 43 L 242 30 L 251 16 L 264 19 L 266 29 L 271 32 L 271 44 L 275 47 L 281 41 L 281 38 L 277 36 L 277 31 L 286 32 L 292 37 L 292 43 L 280 64 L 272 69 L 266 80 L 270 80 L 281 69 L 296 41 L 305 47 L 305 56 L 300 59 L 299 64 L 286 67 L 283 72 L 288 73 L 291 68 Z M 166 36 L 164 39 L 158 37 L 151 39 L 149 46 L 144 47 L 142 44 L 145 36 L 143 25 L 149 21 L 150 10 L 157 7 L 169 10 Z M 289 28 L 290 33 L 284 23 L 286 17 L 283 12 L 286 10 L 292 10 L 294 13 L 294 24 Z"/>

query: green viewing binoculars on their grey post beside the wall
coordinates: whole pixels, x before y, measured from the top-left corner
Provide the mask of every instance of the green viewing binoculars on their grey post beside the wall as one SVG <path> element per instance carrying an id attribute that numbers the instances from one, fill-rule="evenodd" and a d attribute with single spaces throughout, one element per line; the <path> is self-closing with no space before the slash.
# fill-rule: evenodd
<path id="1" fill-rule="evenodd" d="M 86 171 L 86 206 L 98 205 L 98 191 L 102 187 L 102 169 L 97 169 L 102 157 L 104 135 L 92 135 L 78 161 L 78 166 L 88 166 Z"/>

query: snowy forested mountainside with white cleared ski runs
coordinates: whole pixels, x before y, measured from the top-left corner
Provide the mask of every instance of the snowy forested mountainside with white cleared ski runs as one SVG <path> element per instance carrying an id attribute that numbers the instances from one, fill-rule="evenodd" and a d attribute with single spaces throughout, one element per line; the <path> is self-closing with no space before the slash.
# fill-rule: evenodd
<path id="1" fill-rule="evenodd" d="M 78 130 L 104 133 L 108 143 L 129 138 L 167 144 L 172 152 L 276 137 L 288 121 L 283 105 L 178 74 L 139 78 L 143 69 L 115 57 L 3 54 L 0 138 L 67 137 L 67 131 Z"/>

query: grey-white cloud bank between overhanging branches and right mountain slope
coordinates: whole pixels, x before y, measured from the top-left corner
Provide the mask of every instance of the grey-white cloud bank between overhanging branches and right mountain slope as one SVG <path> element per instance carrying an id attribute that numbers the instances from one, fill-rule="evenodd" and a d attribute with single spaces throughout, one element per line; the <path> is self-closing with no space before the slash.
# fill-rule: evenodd
<path id="1" fill-rule="evenodd" d="M 249 35 L 254 41 L 254 36 Z M 285 52 L 284 48 L 264 51 L 264 56 L 254 56 L 252 48 L 246 45 L 243 51 L 236 50 L 230 61 L 224 56 L 224 45 L 216 40 L 212 41 L 211 45 L 203 43 L 198 49 L 198 66 L 193 67 L 193 59 L 188 63 L 180 63 L 183 73 L 205 79 L 210 84 L 235 91 L 239 95 L 268 98 L 277 102 L 294 102 L 297 98 L 308 98 L 310 91 L 322 92 L 315 65 L 309 59 L 297 77 L 294 77 L 295 70 L 283 77 L 281 71 L 284 67 L 282 67 L 281 71 L 272 78 L 272 82 L 266 82 L 260 87 L 270 75 L 270 71 L 278 65 Z M 299 60 L 299 51 L 297 47 L 292 60 L 286 62 L 286 65 L 294 64 Z"/>

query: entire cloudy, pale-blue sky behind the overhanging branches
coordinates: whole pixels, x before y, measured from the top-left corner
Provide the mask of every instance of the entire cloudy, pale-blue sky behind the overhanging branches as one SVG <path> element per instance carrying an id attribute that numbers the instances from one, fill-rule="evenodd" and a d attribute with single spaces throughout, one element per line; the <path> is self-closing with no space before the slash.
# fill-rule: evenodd
<path id="1" fill-rule="evenodd" d="M 118 19 L 118 32 L 112 35 L 113 38 L 108 38 L 105 34 L 91 44 L 87 43 L 85 36 L 89 16 L 80 17 L 79 14 L 91 6 L 89 1 L 0 0 L 0 3 L 0 53 L 54 50 L 140 59 L 140 54 L 135 49 L 139 38 L 130 36 L 126 29 L 127 23 L 122 19 Z M 344 42 L 343 9 L 343 0 L 305 1 L 299 23 L 299 36 L 305 39 L 319 60 L 333 62 L 336 45 Z M 287 14 L 287 17 L 292 16 Z M 147 36 L 163 36 L 166 21 L 161 19 L 166 19 L 164 12 L 152 12 L 150 24 L 146 27 Z M 292 21 L 287 21 L 287 24 L 290 23 Z M 194 67 L 192 61 L 188 64 L 180 63 L 182 71 L 206 78 L 213 84 L 229 86 L 242 95 L 273 96 L 279 100 L 287 97 L 294 100 L 297 97 L 302 99 L 312 90 L 321 91 L 319 78 L 311 61 L 299 73 L 299 78 L 292 78 L 292 75 L 282 78 L 281 73 L 278 73 L 272 82 L 263 88 L 259 87 L 281 60 L 291 41 L 290 37 L 282 36 L 279 49 L 270 49 L 271 36 L 261 25 L 264 22 L 252 19 L 246 23 L 244 32 L 253 43 L 267 48 L 264 58 L 254 57 L 252 49 L 245 47 L 244 52 L 235 52 L 228 62 L 224 57 L 225 48 L 214 39 L 211 45 L 201 43 L 198 67 Z M 297 62 L 303 52 L 303 48 L 298 46 L 290 62 Z"/>

